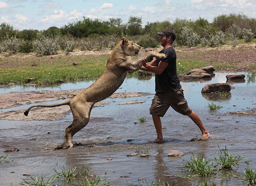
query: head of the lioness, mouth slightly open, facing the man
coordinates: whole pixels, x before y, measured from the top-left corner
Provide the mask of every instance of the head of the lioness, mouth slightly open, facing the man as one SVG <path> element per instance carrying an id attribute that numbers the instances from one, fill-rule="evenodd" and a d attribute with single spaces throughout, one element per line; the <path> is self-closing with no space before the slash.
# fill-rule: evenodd
<path id="1" fill-rule="evenodd" d="M 122 44 L 122 51 L 124 54 L 128 56 L 137 56 L 140 52 L 140 45 L 134 43 L 133 41 L 129 41 L 127 38 L 123 37 L 120 41 Z"/>

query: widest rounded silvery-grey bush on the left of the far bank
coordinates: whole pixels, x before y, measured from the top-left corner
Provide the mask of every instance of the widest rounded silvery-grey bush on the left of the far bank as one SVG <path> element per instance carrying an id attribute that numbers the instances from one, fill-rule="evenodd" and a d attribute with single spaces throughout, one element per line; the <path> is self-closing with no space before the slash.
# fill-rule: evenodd
<path id="1" fill-rule="evenodd" d="M 33 42 L 33 52 L 36 56 L 56 55 L 59 47 L 58 39 L 44 35 Z"/>

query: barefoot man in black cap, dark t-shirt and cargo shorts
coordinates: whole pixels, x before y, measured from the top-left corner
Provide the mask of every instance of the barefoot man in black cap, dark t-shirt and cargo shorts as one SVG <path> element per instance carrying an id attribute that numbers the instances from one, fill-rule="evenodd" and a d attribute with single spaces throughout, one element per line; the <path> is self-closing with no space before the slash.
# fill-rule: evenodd
<path id="1" fill-rule="evenodd" d="M 156 94 L 150 107 L 150 114 L 152 115 L 157 133 L 157 138 L 153 143 L 162 143 L 164 140 L 160 117 L 164 116 L 170 106 L 176 112 L 190 117 L 202 132 L 200 140 L 206 141 L 210 134 L 204 127 L 200 117 L 188 107 L 180 81 L 178 80 L 176 53 L 172 47 L 176 34 L 172 29 L 166 29 L 158 32 L 158 35 L 161 36 L 161 45 L 164 47 L 159 53 L 166 54 L 166 58 L 160 60 L 153 59 L 149 64 L 146 63 L 146 59 L 142 59 L 143 66 L 141 67 L 141 70 L 151 71 L 156 74 Z"/>

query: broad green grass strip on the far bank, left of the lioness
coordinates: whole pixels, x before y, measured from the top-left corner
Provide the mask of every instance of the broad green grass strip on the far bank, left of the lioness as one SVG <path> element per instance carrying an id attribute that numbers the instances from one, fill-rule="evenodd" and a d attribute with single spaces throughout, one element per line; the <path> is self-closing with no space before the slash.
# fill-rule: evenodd
<path id="1" fill-rule="evenodd" d="M 24 59 L 6 59 L 0 69 L 0 84 L 14 82 L 28 83 L 28 78 L 36 78 L 33 83 L 56 84 L 63 81 L 98 78 L 106 68 L 108 55 L 76 57 L 28 57 Z M 48 59 L 48 60 L 44 60 Z M 80 63 L 72 65 L 73 62 Z M 6 65 L 7 64 L 7 65 Z M 36 64 L 36 65 L 33 65 Z"/>

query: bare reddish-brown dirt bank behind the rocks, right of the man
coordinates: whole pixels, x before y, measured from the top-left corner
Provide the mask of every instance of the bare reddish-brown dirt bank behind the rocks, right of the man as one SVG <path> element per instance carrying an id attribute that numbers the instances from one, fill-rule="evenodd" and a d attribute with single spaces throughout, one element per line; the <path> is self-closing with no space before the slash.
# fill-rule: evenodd
<path id="1" fill-rule="evenodd" d="M 208 60 L 209 66 L 231 65 L 224 72 L 253 72 L 256 71 L 256 43 L 253 45 L 238 45 L 237 47 L 223 46 L 216 48 L 188 48 L 176 50 L 180 59 Z"/>

